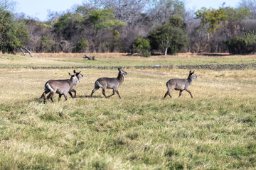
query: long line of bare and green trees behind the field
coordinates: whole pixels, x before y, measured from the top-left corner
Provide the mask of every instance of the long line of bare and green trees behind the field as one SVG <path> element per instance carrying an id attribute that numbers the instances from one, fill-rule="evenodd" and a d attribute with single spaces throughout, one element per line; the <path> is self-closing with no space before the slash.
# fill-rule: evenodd
<path id="1" fill-rule="evenodd" d="M 180 0 L 90 0 L 41 22 L 0 0 L 0 51 L 177 52 L 256 51 L 256 4 L 186 10 Z"/>

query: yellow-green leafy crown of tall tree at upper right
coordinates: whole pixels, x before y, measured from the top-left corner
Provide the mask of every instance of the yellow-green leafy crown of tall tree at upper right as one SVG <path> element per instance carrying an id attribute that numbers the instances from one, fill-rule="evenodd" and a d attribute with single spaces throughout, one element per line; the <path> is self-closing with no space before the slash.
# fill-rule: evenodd
<path id="1" fill-rule="evenodd" d="M 221 28 L 220 23 L 228 20 L 228 15 L 224 8 L 215 10 L 214 8 L 201 8 L 196 11 L 196 19 L 200 18 L 200 30 L 205 29 L 206 33 L 215 33 L 218 28 Z"/>

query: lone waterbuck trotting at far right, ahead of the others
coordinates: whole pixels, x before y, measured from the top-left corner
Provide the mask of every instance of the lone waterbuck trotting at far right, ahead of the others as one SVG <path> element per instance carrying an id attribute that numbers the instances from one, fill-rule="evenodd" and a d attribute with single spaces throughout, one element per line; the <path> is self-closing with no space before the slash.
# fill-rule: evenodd
<path id="1" fill-rule="evenodd" d="M 167 81 L 166 86 L 168 90 L 164 95 L 164 98 L 166 98 L 167 95 L 171 97 L 170 93 L 173 90 L 180 91 L 178 97 L 181 96 L 183 90 L 186 90 L 188 91 L 188 94 L 191 95 L 191 98 L 193 98 L 191 91 L 188 90 L 188 87 L 191 85 L 193 79 L 197 79 L 197 76 L 196 74 L 194 74 L 194 72 L 195 71 L 193 72 L 189 71 L 188 79 L 170 79 L 169 81 Z"/>

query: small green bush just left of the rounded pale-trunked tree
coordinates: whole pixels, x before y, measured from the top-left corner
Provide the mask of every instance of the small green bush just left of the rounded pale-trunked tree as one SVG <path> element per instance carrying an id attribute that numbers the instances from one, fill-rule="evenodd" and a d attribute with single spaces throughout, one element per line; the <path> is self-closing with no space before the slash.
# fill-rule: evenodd
<path id="1" fill-rule="evenodd" d="M 133 45 L 134 52 L 142 54 L 144 57 L 150 57 L 150 42 L 148 39 L 139 35 Z"/>

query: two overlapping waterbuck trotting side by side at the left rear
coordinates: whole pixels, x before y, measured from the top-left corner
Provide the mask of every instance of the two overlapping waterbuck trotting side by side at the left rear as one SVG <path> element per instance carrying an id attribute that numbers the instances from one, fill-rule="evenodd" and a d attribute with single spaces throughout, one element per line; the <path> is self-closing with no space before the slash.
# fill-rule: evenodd
<path id="1" fill-rule="evenodd" d="M 71 92 L 75 93 L 76 91 L 74 89 L 75 85 L 80 82 L 80 79 L 83 77 L 80 72 L 75 72 L 74 74 L 70 74 L 70 79 L 63 79 L 63 80 L 49 80 L 45 84 L 45 91 L 43 92 L 41 98 L 43 98 L 43 103 L 46 103 L 46 94 L 50 92 L 50 94 L 47 96 L 47 99 L 50 98 L 50 100 L 53 102 L 53 96 L 55 93 L 59 94 L 58 101 L 60 101 L 60 98 L 62 95 L 65 97 L 65 101 L 68 99 L 67 94 L 69 93 L 71 97 Z M 74 96 L 74 97 L 75 97 Z"/>

